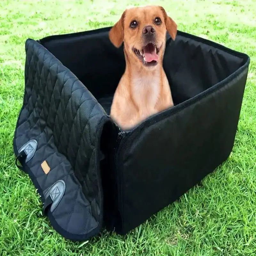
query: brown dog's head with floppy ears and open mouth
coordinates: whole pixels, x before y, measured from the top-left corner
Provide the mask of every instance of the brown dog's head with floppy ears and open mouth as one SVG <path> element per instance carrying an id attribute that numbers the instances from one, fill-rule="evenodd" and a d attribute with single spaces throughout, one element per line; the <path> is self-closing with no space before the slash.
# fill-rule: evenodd
<path id="1" fill-rule="evenodd" d="M 109 39 L 116 47 L 124 42 L 127 60 L 156 67 L 163 60 L 166 30 L 175 40 L 177 25 L 163 7 L 133 7 L 111 28 Z"/>

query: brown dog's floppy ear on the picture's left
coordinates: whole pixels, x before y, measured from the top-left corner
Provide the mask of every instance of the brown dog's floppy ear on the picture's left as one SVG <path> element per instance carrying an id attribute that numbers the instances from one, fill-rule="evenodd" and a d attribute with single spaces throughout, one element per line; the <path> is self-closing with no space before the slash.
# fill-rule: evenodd
<path id="1" fill-rule="evenodd" d="M 121 46 L 124 41 L 124 16 L 125 11 L 123 12 L 120 20 L 110 29 L 108 36 L 112 44 L 117 48 Z"/>

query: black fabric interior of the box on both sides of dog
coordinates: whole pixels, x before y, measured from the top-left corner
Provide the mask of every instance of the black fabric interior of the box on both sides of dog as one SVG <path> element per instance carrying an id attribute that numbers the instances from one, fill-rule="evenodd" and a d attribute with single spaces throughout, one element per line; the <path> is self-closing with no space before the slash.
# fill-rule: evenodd
<path id="1" fill-rule="evenodd" d="M 40 40 L 97 100 L 109 99 L 109 95 L 113 97 L 125 69 L 123 47 L 116 48 L 111 44 L 109 29 L 50 36 Z M 203 38 L 178 31 L 175 41 L 172 41 L 167 34 L 163 67 L 174 104 L 184 102 L 219 83 L 244 65 L 246 60 L 245 54 Z M 101 102 L 104 104 L 106 100 Z M 102 105 L 107 112 L 108 102 Z"/>

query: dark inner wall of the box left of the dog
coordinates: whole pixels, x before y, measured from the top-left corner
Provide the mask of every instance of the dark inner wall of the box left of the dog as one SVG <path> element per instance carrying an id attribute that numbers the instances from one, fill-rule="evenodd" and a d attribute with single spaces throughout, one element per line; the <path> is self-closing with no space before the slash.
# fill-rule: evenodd
<path id="1" fill-rule="evenodd" d="M 122 47 L 117 49 L 111 44 L 104 29 L 99 33 L 86 31 L 84 35 L 60 36 L 53 40 L 43 38 L 40 42 L 79 78 L 97 100 L 114 94 L 124 73 L 124 52 Z"/>

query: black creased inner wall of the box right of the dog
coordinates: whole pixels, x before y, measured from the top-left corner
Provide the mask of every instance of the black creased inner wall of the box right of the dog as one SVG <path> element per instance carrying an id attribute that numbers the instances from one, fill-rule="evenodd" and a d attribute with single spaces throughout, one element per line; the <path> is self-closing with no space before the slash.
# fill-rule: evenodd
<path id="1" fill-rule="evenodd" d="M 233 74 L 247 58 L 236 57 L 185 36 L 166 42 L 164 70 L 175 105 L 204 92 Z"/>

